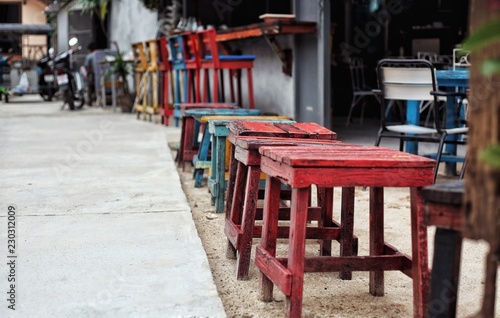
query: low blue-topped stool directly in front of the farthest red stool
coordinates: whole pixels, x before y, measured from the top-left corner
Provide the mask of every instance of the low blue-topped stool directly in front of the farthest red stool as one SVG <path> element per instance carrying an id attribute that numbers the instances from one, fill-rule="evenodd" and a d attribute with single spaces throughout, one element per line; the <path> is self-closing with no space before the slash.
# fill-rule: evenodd
<path id="1" fill-rule="evenodd" d="M 186 116 L 194 117 L 194 119 L 200 124 L 202 122 L 202 117 L 205 116 L 256 116 L 260 114 L 258 109 L 227 109 L 227 108 L 195 108 L 190 109 L 185 112 Z M 206 122 L 205 122 L 206 124 Z M 195 179 L 194 186 L 196 188 L 201 187 L 203 181 L 203 170 L 210 168 L 211 162 L 209 161 L 209 150 L 210 150 L 210 132 L 208 131 L 208 125 L 204 125 L 203 138 L 198 149 L 198 154 L 193 157 L 194 164 L 194 174 Z"/>

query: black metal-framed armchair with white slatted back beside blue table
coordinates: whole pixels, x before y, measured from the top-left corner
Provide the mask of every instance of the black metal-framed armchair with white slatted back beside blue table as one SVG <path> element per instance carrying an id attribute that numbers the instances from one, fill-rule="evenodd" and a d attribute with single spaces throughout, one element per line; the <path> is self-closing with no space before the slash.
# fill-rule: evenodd
<path id="1" fill-rule="evenodd" d="M 438 91 L 435 69 L 432 63 L 426 60 L 381 60 L 377 65 L 377 77 L 383 99 L 424 100 L 432 101 L 437 105 L 440 96 L 454 96 L 459 101 L 466 97 L 465 93 Z M 381 114 L 385 114 L 385 103 L 382 102 L 380 105 Z M 375 145 L 378 146 L 382 138 L 397 138 L 400 141 L 399 150 L 403 151 L 405 141 L 438 143 L 437 165 L 434 171 L 434 180 L 436 180 L 444 144 L 466 144 L 466 138 L 458 138 L 458 135 L 465 135 L 468 131 L 460 120 L 460 108 L 461 105 L 457 103 L 455 108 L 457 124 L 453 128 L 444 127 L 443 118 L 446 118 L 446 109 L 440 111 L 439 107 L 431 107 L 434 121 L 432 127 L 412 123 L 407 118 L 400 123 L 389 123 L 385 116 L 381 116 L 381 127 Z M 447 138 L 450 135 L 457 136 L 457 138 Z"/>

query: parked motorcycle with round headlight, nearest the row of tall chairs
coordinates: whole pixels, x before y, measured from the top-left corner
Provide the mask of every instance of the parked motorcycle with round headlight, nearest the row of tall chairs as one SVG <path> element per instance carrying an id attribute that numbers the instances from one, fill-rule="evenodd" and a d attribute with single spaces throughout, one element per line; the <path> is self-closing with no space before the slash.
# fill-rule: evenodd
<path id="1" fill-rule="evenodd" d="M 69 40 L 70 47 L 78 43 L 77 38 Z M 68 104 L 69 109 L 75 110 L 83 107 L 84 104 L 84 86 L 83 77 L 73 67 L 73 53 L 81 50 L 81 46 L 76 49 L 70 48 L 66 52 L 56 55 L 54 58 L 54 73 L 56 75 L 57 86 L 64 97 L 64 106 Z"/>

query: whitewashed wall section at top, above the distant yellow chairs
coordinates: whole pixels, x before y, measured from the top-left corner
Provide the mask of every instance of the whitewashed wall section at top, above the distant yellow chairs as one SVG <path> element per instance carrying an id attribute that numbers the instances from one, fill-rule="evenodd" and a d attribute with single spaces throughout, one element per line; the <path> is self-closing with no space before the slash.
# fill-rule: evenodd
<path id="1" fill-rule="evenodd" d="M 121 51 L 131 51 L 131 43 L 156 37 L 156 12 L 152 12 L 138 0 L 114 0 L 110 19 L 110 36 Z"/>

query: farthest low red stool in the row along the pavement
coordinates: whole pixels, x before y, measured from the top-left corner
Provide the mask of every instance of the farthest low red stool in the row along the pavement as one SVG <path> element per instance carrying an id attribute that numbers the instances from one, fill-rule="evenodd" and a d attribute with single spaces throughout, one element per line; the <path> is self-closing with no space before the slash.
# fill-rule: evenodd
<path id="1" fill-rule="evenodd" d="M 188 109 L 195 108 L 238 108 L 231 104 L 216 104 L 216 103 L 185 103 L 181 104 L 181 114 L 182 114 L 182 128 L 181 128 L 181 140 L 179 144 L 179 150 L 177 151 L 177 156 L 175 160 L 179 167 L 182 166 L 184 171 L 184 165 L 186 162 L 192 163 L 193 157 L 198 153 L 198 134 L 200 132 L 200 127 L 196 125 L 196 121 L 191 116 L 184 116 L 184 112 Z"/>

